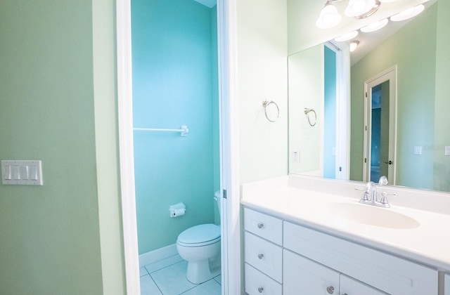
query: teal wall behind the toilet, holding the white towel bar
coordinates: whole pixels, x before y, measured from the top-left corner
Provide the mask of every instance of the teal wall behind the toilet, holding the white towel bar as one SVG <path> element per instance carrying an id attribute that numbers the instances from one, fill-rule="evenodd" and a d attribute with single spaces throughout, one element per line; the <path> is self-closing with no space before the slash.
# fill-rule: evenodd
<path id="1" fill-rule="evenodd" d="M 214 223 L 219 189 L 217 21 L 195 1 L 132 1 L 134 131 L 139 253 L 176 242 L 186 228 Z M 213 144 L 214 143 L 214 144 Z M 216 177 L 214 177 L 214 175 Z M 169 217 L 169 206 L 186 214 Z"/>

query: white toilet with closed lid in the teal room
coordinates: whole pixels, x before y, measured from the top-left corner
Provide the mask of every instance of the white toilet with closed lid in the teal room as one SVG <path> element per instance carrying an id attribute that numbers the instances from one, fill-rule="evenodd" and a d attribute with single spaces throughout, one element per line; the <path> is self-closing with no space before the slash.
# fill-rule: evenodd
<path id="1" fill-rule="evenodd" d="M 219 203 L 219 192 L 214 199 Z M 219 206 L 220 211 L 220 206 Z M 220 275 L 220 226 L 212 223 L 195 225 L 179 234 L 176 249 L 188 261 L 186 278 L 200 284 Z"/>

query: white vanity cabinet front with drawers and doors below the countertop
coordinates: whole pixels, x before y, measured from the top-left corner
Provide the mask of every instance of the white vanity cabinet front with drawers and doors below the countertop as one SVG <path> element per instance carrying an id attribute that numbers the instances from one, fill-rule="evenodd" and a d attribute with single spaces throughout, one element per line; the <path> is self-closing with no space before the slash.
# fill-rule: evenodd
<path id="1" fill-rule="evenodd" d="M 438 294 L 434 268 L 248 208 L 244 221 L 250 295 Z"/>

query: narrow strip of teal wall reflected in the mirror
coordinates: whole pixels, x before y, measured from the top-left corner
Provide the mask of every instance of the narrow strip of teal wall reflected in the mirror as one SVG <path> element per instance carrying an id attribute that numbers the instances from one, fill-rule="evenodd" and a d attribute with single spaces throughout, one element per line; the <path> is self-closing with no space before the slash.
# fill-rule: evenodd
<path id="1" fill-rule="evenodd" d="M 323 177 L 335 178 L 336 157 L 332 151 L 336 147 L 336 53 L 324 46 L 324 55 Z"/>

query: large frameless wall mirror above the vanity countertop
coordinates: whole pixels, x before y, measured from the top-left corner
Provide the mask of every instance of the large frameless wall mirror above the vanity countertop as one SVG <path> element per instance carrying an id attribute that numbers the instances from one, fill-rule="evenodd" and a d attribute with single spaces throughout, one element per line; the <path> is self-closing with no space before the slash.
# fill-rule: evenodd
<path id="1" fill-rule="evenodd" d="M 390 184 L 450 191 L 449 1 L 426 1 L 404 24 L 360 34 L 352 53 L 349 41 L 326 40 L 399 12 L 406 1 L 372 20 L 314 28 L 314 38 L 297 29 L 299 22 L 314 27 L 314 17 L 297 18 L 319 14 L 322 4 L 310 2 L 318 1 L 288 1 L 290 173 L 352 181 L 386 175 Z M 379 41 L 364 48 L 374 43 L 367 38 Z"/>

